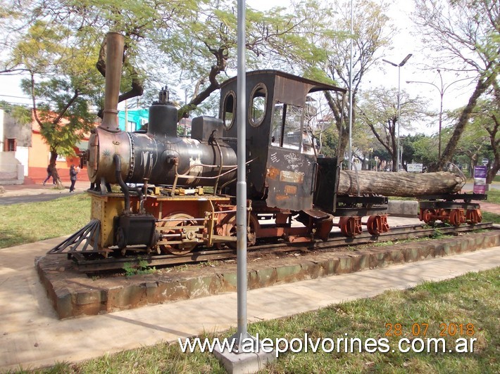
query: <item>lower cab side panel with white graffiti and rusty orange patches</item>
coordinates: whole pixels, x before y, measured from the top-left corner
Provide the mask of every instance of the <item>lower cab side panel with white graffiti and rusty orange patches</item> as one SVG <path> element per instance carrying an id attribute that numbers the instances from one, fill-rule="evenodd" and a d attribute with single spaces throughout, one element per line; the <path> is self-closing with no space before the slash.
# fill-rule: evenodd
<path id="1" fill-rule="evenodd" d="M 295 211 L 311 209 L 315 169 L 314 155 L 287 148 L 270 150 L 265 175 L 268 207 Z"/>

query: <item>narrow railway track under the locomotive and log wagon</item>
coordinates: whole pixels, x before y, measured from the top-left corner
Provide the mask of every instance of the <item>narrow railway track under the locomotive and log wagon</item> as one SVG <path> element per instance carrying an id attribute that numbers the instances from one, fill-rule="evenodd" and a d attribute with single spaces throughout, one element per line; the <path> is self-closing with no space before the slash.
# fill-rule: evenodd
<path id="1" fill-rule="evenodd" d="M 425 238 L 432 236 L 438 229 L 443 234 L 451 233 L 466 233 L 477 230 L 492 229 L 492 223 L 475 224 L 473 226 L 435 226 L 426 228 L 422 225 L 406 225 L 391 228 L 387 233 L 380 236 L 371 236 L 369 233 L 361 233 L 354 238 L 346 238 L 338 236 L 338 233 L 331 233 L 329 240 L 326 242 L 315 241 L 313 243 L 275 243 L 266 245 L 255 245 L 247 248 L 249 257 L 261 256 L 271 253 L 286 253 L 286 252 L 310 252 L 311 250 L 332 250 L 337 247 L 345 247 L 347 245 L 365 245 L 370 243 L 382 243 L 392 240 L 406 240 L 413 238 Z M 79 252 L 68 253 L 68 257 L 73 258 L 75 266 L 79 271 L 95 272 L 104 270 L 123 269 L 125 264 L 137 264 L 139 262 L 147 262 L 148 266 L 174 266 L 181 264 L 192 264 L 197 262 L 220 261 L 228 259 L 236 259 L 236 251 L 232 249 L 223 250 L 197 250 L 184 255 L 174 254 L 154 254 L 130 257 L 108 257 L 101 259 L 87 259 Z"/>

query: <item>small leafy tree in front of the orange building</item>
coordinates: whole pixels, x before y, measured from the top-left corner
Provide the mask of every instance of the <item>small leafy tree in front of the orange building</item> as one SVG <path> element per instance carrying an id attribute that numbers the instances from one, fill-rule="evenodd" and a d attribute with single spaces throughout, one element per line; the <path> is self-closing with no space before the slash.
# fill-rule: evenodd
<path id="1" fill-rule="evenodd" d="M 32 97 L 33 117 L 49 145 L 49 165 L 58 186 L 62 184 L 56 159 L 74 155 L 75 143 L 93 127 L 89 99 L 96 97 L 101 85 L 89 51 L 78 44 L 61 44 L 67 34 L 65 27 L 38 21 L 13 51 L 13 61 L 30 72 L 22 88 Z"/>

